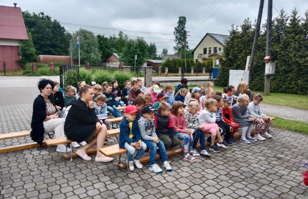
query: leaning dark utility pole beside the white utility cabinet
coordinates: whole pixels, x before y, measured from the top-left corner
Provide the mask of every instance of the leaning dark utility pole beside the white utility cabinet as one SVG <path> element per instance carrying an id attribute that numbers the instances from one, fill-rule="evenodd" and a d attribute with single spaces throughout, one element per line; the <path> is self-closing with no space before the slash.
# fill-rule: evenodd
<path id="1" fill-rule="evenodd" d="M 259 39 L 259 34 L 260 34 L 263 4 L 264 4 L 264 0 L 260 0 L 259 13 L 258 13 L 258 18 L 257 18 L 257 27 L 256 27 L 256 32 L 254 33 L 254 37 L 253 37 L 253 45 L 252 45 L 251 56 L 250 56 L 249 67 L 248 67 L 248 70 L 249 70 L 248 84 L 250 84 L 250 82 L 251 82 L 253 62 L 254 62 L 254 57 L 256 56 L 256 51 L 257 51 L 257 44 L 258 44 L 258 39 Z"/>

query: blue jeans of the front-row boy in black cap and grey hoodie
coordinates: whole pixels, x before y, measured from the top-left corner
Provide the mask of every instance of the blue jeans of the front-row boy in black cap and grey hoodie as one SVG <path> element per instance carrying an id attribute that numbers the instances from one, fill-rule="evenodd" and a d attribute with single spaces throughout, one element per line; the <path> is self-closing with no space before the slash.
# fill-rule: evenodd
<path id="1" fill-rule="evenodd" d="M 159 148 L 161 162 L 164 163 L 165 161 L 168 161 L 168 156 L 163 141 L 159 140 L 159 143 L 157 144 L 151 140 L 142 139 L 142 141 L 150 148 L 150 166 L 156 164 L 157 147 Z"/>

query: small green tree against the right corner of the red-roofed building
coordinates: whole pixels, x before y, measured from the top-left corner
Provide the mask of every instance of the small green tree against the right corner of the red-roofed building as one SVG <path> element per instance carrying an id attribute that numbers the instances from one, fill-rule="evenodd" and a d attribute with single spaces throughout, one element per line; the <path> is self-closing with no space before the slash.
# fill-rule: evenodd
<path id="1" fill-rule="evenodd" d="M 17 63 L 20 64 L 21 68 L 23 68 L 26 63 L 33 62 L 37 59 L 31 32 L 27 30 L 27 34 L 29 40 L 21 41 L 19 43 L 19 51 L 17 52 L 17 55 L 21 56 L 20 60 L 17 60 Z"/>

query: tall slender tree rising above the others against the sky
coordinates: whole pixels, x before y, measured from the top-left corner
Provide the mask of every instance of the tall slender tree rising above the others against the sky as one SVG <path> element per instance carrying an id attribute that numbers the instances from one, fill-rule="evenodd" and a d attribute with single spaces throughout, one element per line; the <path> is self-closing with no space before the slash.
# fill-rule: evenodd
<path id="1" fill-rule="evenodd" d="M 186 36 L 183 37 L 185 26 L 186 26 L 186 17 L 180 16 L 177 22 L 177 26 L 174 27 L 174 31 L 173 31 L 173 35 L 175 37 L 174 39 L 175 46 L 173 47 L 173 50 L 176 54 L 180 54 L 182 41 L 186 41 Z M 183 45 L 183 50 L 185 49 L 186 45 L 187 45 L 187 41 L 186 41 L 186 44 Z"/>

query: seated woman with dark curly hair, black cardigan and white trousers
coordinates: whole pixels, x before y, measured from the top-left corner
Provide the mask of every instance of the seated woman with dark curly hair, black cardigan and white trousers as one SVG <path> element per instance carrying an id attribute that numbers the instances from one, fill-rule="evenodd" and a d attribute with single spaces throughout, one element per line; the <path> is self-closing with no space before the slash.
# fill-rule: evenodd
<path id="1" fill-rule="evenodd" d="M 31 138 L 42 145 L 44 133 L 55 131 L 56 138 L 64 137 L 64 118 L 59 118 L 51 91 L 54 83 L 48 79 L 41 79 L 38 84 L 41 94 L 33 102 L 33 114 L 31 121 Z M 63 144 L 58 144 L 58 152 L 66 152 Z M 70 152 L 70 149 L 67 149 Z"/>

